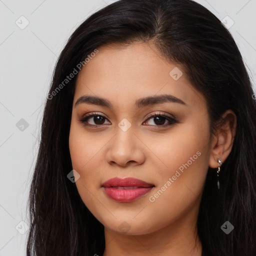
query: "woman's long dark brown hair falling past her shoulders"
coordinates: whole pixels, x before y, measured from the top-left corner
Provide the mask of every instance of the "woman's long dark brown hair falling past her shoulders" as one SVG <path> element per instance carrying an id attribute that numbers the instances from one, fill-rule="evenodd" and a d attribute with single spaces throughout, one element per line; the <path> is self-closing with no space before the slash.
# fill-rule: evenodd
<path id="1" fill-rule="evenodd" d="M 90 15 L 72 33 L 52 77 L 29 193 L 27 255 L 102 255 L 103 225 L 82 202 L 72 170 L 68 136 L 77 70 L 91 52 L 110 43 L 152 42 L 162 58 L 183 66 L 207 100 L 210 132 L 220 115 L 237 117 L 232 150 L 220 172 L 208 169 L 197 219 L 203 252 L 256 255 L 256 103 L 250 78 L 229 31 L 191 0 L 119 0 Z M 79 70 L 78 70 L 79 71 Z M 62 83 L 63 86 L 59 86 Z M 54 92 L 55 91 L 55 92 Z M 221 225 L 234 229 L 225 234 Z"/>

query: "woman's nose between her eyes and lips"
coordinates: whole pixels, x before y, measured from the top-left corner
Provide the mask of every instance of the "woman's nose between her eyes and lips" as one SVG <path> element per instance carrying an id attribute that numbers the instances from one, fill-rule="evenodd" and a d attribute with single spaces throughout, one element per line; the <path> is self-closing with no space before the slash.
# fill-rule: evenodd
<path id="1" fill-rule="evenodd" d="M 123 167 L 142 164 L 145 160 L 143 145 L 131 128 L 126 131 L 117 128 L 116 134 L 108 143 L 106 161 Z"/>

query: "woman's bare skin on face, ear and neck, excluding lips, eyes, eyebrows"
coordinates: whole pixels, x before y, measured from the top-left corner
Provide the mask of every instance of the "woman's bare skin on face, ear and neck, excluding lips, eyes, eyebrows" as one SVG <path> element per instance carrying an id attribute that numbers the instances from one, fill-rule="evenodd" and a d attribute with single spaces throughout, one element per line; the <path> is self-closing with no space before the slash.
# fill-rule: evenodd
<path id="1" fill-rule="evenodd" d="M 222 115 L 225 122 L 210 136 L 206 101 L 181 65 L 163 60 L 146 43 L 98 50 L 77 77 L 69 150 L 72 167 L 80 175 L 76 186 L 81 199 L 104 225 L 103 255 L 200 256 L 196 220 L 203 185 L 208 167 L 217 168 L 217 159 L 224 162 L 231 151 L 235 114 L 227 110 Z M 183 72 L 177 80 L 169 75 L 174 67 Z M 134 105 L 138 98 L 159 94 L 171 94 L 186 105 L 164 102 L 139 109 Z M 88 103 L 75 106 L 83 95 L 104 97 L 113 108 Z M 95 123 L 91 117 L 87 121 L 94 128 L 85 126 L 79 119 L 91 112 L 106 119 Z M 174 115 L 178 122 L 164 127 L 169 121 L 163 119 L 159 126 L 149 113 Z M 118 126 L 123 118 L 131 124 L 127 131 Z M 197 159 L 150 201 L 198 151 Z M 134 201 L 118 202 L 101 187 L 112 177 L 135 177 L 155 187 Z"/>

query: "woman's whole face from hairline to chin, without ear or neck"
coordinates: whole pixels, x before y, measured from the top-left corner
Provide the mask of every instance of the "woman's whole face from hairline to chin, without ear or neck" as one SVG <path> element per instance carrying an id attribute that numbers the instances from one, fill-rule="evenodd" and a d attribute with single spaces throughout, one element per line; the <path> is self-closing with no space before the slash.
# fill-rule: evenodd
<path id="1" fill-rule="evenodd" d="M 87 96 L 108 105 L 88 102 Z M 72 167 L 84 204 L 111 231 L 147 234 L 191 226 L 209 165 L 209 135 L 202 94 L 182 66 L 167 63 L 148 44 L 101 47 L 78 74 L 69 134 Z M 102 186 L 115 177 L 149 185 Z"/>

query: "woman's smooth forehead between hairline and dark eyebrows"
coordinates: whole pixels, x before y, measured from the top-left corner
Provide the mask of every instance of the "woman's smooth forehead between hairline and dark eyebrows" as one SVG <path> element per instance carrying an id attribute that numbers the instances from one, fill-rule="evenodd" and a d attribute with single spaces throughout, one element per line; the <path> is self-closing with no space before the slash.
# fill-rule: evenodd
<path id="1" fill-rule="evenodd" d="M 88 94 L 108 98 L 116 107 L 156 94 L 171 94 L 190 106 L 205 103 L 182 66 L 167 62 L 146 43 L 98 48 L 78 74 L 74 100 Z"/>

